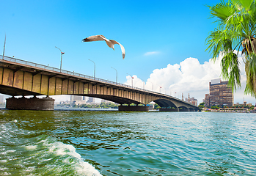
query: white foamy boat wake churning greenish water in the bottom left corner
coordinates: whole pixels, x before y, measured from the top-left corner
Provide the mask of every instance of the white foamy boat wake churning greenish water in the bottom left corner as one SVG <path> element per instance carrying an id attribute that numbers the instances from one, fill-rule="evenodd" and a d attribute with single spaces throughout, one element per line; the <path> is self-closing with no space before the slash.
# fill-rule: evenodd
<path id="1" fill-rule="evenodd" d="M 72 145 L 15 123 L 0 125 L 0 175 L 100 175 Z"/>

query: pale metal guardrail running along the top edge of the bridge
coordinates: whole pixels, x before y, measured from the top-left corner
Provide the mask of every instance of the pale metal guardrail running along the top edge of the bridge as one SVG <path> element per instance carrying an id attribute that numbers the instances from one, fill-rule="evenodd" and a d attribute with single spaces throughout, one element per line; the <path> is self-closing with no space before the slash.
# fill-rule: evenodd
<path id="1" fill-rule="evenodd" d="M 29 66 L 32 66 L 32 67 L 38 67 L 38 68 L 45 69 L 45 70 L 51 70 L 51 71 L 55 71 L 55 72 L 59 72 L 59 73 L 65 73 L 65 74 L 70 75 L 70 76 L 78 76 L 80 78 L 89 78 L 89 79 L 92 79 L 92 80 L 95 80 L 95 81 L 101 81 L 101 82 L 108 83 L 108 84 L 115 84 L 115 85 L 122 86 L 122 87 L 137 89 L 137 90 L 140 90 L 140 91 L 143 91 L 143 92 L 150 92 L 150 93 L 155 93 L 155 94 L 158 94 L 158 95 L 164 95 L 164 96 L 167 96 L 167 97 L 171 97 L 175 100 L 180 100 L 178 98 L 172 97 L 171 95 L 165 95 L 165 94 L 162 94 L 162 93 L 153 92 L 151 90 L 142 89 L 142 88 L 138 88 L 138 87 L 131 87 L 131 86 L 128 86 L 126 84 L 121 84 L 121 83 L 117 83 L 117 82 L 113 82 L 113 81 L 109 81 L 109 80 L 105 80 L 105 79 L 101 79 L 101 78 L 94 78 L 92 76 L 87 76 L 87 75 L 83 75 L 83 74 L 80 74 L 80 73 L 70 72 L 70 71 L 67 71 L 67 70 L 60 70 L 59 68 L 56 68 L 56 67 L 40 65 L 40 64 L 37 64 L 37 63 L 34 63 L 34 62 L 24 61 L 24 60 L 21 60 L 21 59 L 16 59 L 14 57 L 10 57 L 10 56 L 4 56 L 3 57 L 2 55 L 0 55 L 0 59 L 10 61 L 10 62 L 15 62 L 15 63 L 18 63 L 18 64 L 29 65 Z M 183 103 L 188 103 L 184 100 L 180 100 L 180 101 L 182 101 Z M 189 104 L 191 104 L 191 103 L 189 103 Z M 194 106 L 194 105 L 192 105 L 192 106 Z"/>

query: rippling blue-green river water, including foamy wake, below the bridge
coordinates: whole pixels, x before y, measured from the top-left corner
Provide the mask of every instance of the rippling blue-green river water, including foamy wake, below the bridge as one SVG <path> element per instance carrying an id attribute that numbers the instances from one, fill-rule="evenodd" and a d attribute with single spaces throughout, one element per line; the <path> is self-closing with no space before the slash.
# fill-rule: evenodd
<path id="1" fill-rule="evenodd" d="M 0 175 L 256 175 L 256 114 L 0 110 Z"/>

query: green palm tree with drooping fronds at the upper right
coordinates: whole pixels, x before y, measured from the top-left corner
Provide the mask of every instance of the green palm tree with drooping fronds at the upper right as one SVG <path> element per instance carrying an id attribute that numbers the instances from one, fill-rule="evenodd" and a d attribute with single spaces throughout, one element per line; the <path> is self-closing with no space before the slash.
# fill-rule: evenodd
<path id="1" fill-rule="evenodd" d="M 218 27 L 206 39 L 213 61 L 222 57 L 222 76 L 230 87 L 241 87 L 238 52 L 246 71 L 245 93 L 256 97 L 256 2 L 255 0 L 221 1 L 210 8 Z"/>

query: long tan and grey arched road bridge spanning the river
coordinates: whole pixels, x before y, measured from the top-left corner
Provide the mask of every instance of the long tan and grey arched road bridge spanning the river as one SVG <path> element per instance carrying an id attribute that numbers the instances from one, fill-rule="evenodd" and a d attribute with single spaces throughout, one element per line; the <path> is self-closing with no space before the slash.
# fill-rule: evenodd
<path id="1" fill-rule="evenodd" d="M 86 76 L 55 67 L 0 55 L 0 93 L 11 95 L 11 106 L 22 106 L 27 95 L 81 95 L 119 103 L 120 111 L 148 111 L 150 102 L 161 106 L 160 111 L 197 111 L 197 106 L 178 98 L 147 89 L 131 87 L 113 81 Z M 22 95 L 21 100 L 14 96 Z M 45 98 L 45 100 L 47 99 Z M 50 100 L 50 99 L 48 99 Z M 13 105 L 13 101 L 14 104 Z M 20 102 L 20 104 L 17 104 Z M 37 101 L 38 102 L 38 101 Z M 8 99 L 7 99 L 8 104 Z M 9 103 L 10 104 L 10 103 Z M 32 106 L 34 101 L 30 103 Z M 135 104 L 136 106 L 130 106 Z M 7 107 L 8 108 L 8 107 Z M 14 108 L 15 109 L 15 108 Z M 26 108 L 24 108 L 26 109 Z"/>

